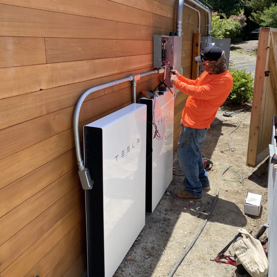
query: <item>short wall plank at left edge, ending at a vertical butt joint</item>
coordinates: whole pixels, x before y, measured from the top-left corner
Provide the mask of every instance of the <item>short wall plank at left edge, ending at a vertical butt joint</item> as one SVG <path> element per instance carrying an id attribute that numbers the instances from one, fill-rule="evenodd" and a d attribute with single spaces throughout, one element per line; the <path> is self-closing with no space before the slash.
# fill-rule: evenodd
<path id="1" fill-rule="evenodd" d="M 0 68 L 46 63 L 44 38 L 0 37 Z"/>

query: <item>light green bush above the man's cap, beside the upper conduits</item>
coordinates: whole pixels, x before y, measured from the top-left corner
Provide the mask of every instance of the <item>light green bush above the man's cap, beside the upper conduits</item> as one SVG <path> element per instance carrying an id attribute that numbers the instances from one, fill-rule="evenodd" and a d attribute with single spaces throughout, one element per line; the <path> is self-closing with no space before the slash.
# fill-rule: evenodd
<path id="1" fill-rule="evenodd" d="M 241 32 L 241 25 L 238 21 L 226 18 L 225 14 L 221 14 L 223 19 L 220 19 L 220 14 L 212 14 L 211 35 L 214 38 L 234 38 Z"/>

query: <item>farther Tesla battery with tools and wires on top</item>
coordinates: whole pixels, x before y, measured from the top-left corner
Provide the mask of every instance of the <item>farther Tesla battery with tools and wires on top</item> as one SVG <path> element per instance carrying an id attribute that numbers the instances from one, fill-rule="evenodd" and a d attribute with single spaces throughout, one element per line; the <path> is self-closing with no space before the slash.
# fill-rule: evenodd
<path id="1" fill-rule="evenodd" d="M 150 214 L 172 181 L 174 89 L 171 90 L 173 94 L 167 89 L 154 99 L 139 100 L 147 105 L 146 212 Z"/>

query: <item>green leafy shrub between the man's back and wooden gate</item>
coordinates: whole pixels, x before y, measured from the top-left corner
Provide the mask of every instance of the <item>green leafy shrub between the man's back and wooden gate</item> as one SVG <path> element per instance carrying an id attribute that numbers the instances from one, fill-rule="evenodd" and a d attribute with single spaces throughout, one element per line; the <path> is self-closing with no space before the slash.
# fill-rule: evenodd
<path id="1" fill-rule="evenodd" d="M 230 69 L 233 76 L 234 84 L 232 91 L 227 98 L 227 103 L 232 103 L 234 105 L 244 104 L 252 99 L 253 96 L 253 82 L 251 72 L 246 72 L 245 69 Z"/>

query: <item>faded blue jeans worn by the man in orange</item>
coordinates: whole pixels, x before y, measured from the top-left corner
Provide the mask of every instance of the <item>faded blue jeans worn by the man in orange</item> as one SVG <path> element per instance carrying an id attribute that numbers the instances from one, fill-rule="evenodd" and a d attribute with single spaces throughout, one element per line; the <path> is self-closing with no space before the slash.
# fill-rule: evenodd
<path id="1" fill-rule="evenodd" d="M 202 197 L 202 187 L 210 185 L 200 151 L 206 139 L 207 129 L 193 129 L 181 125 L 178 161 L 185 175 L 185 190 L 191 195 Z"/>

